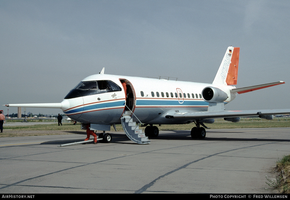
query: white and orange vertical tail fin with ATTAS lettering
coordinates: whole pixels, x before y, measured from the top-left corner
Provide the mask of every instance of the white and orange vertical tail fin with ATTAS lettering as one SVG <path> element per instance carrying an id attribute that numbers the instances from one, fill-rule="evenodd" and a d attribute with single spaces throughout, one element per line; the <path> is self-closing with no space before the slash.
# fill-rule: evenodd
<path id="1" fill-rule="evenodd" d="M 229 46 L 224 54 L 213 84 L 236 85 L 238 80 L 240 47 Z"/>

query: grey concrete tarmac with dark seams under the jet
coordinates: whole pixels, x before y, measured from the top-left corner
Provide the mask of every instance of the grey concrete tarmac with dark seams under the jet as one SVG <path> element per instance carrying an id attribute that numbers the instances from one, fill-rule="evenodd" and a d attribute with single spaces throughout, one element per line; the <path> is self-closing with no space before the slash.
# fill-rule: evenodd
<path id="1" fill-rule="evenodd" d="M 0 192 L 277 193 L 267 178 L 290 153 L 290 128 L 160 131 L 138 145 L 124 132 L 109 144 L 58 147 L 85 134 L 0 138 Z"/>

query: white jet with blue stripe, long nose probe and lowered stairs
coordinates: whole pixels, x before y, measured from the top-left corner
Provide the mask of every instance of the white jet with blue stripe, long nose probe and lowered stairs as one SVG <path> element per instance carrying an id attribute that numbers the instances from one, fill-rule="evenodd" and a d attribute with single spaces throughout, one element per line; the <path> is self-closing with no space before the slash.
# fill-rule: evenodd
<path id="1" fill-rule="evenodd" d="M 203 139 L 214 118 L 239 122 L 241 116 L 273 119 L 274 114 L 290 113 L 290 109 L 225 111 L 224 104 L 236 94 L 246 93 L 283 81 L 250 87 L 235 88 L 238 78 L 240 48 L 228 47 L 212 84 L 169 80 L 169 78 L 140 78 L 107 75 L 102 72 L 84 78 L 61 103 L 6 104 L 7 107 L 60 108 L 72 120 L 81 122 L 82 129 L 101 130 L 104 142 L 111 142 L 105 133 L 110 126 L 122 124 L 127 136 L 136 143 L 150 143 L 148 137 L 157 137 L 154 124 L 195 123 L 192 138 Z M 146 126 L 145 134 L 136 126 Z M 202 127 L 203 126 L 203 127 Z M 205 127 L 205 128 L 204 128 Z M 116 130 L 116 128 L 115 128 Z"/>

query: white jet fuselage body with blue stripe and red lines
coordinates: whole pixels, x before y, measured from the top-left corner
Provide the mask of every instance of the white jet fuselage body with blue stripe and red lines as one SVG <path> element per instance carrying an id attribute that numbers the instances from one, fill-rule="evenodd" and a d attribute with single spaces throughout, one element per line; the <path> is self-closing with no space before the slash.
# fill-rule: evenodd
<path id="1" fill-rule="evenodd" d="M 64 113 L 81 123 L 120 124 L 130 109 L 147 124 L 182 124 L 182 119 L 166 119 L 180 112 L 207 111 L 209 103 L 201 92 L 211 84 L 175 80 L 96 74 L 83 79 L 64 98 Z M 232 86 L 221 86 L 229 89 Z M 233 100 L 228 94 L 225 103 Z M 125 106 L 126 105 L 126 106 Z"/>

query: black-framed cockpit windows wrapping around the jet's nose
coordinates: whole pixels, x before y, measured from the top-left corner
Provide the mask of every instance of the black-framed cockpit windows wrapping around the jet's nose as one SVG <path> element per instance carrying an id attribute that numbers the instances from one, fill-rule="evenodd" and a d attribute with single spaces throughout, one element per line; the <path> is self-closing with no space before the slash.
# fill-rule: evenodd
<path id="1" fill-rule="evenodd" d="M 122 89 L 110 80 L 84 81 L 80 82 L 74 89 L 72 89 L 65 99 L 115 91 L 122 91 Z"/>

